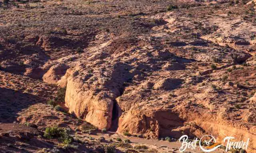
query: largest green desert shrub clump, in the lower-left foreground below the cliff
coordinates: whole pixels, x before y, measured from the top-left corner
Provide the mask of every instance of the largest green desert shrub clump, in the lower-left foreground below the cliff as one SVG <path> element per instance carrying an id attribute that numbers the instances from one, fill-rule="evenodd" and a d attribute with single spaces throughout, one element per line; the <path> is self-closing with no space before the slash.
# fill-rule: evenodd
<path id="1" fill-rule="evenodd" d="M 44 137 L 46 138 L 58 138 L 58 141 L 61 141 L 64 144 L 70 144 L 74 141 L 74 138 L 69 135 L 69 131 L 64 128 L 47 127 L 44 131 Z"/>

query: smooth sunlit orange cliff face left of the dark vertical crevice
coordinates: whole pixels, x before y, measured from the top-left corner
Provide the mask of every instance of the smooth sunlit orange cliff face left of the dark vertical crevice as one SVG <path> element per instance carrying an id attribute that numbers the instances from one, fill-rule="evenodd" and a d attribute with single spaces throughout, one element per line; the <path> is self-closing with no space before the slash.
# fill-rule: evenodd
<path id="1" fill-rule="evenodd" d="M 91 91 L 83 91 L 81 84 L 69 78 L 66 86 L 66 106 L 71 114 L 82 118 L 99 129 L 109 129 L 112 119 L 113 101 L 100 99 Z"/>

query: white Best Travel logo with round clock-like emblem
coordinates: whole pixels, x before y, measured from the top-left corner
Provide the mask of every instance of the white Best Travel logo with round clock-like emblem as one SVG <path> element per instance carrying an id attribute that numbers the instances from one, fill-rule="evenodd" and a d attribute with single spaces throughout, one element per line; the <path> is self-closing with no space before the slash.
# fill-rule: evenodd
<path id="1" fill-rule="evenodd" d="M 188 135 L 182 135 L 179 139 L 180 142 L 182 142 L 182 145 L 180 147 L 180 152 L 186 151 L 186 149 L 196 149 L 197 145 L 199 145 L 200 149 L 206 153 L 212 152 L 219 147 L 226 146 L 226 152 L 228 152 L 230 149 L 244 149 L 246 150 L 248 148 L 249 144 L 249 138 L 247 141 L 233 141 L 235 137 L 225 137 L 223 139 L 223 144 L 218 143 L 216 139 L 212 135 L 204 135 L 199 140 L 198 138 L 189 141 Z"/>

